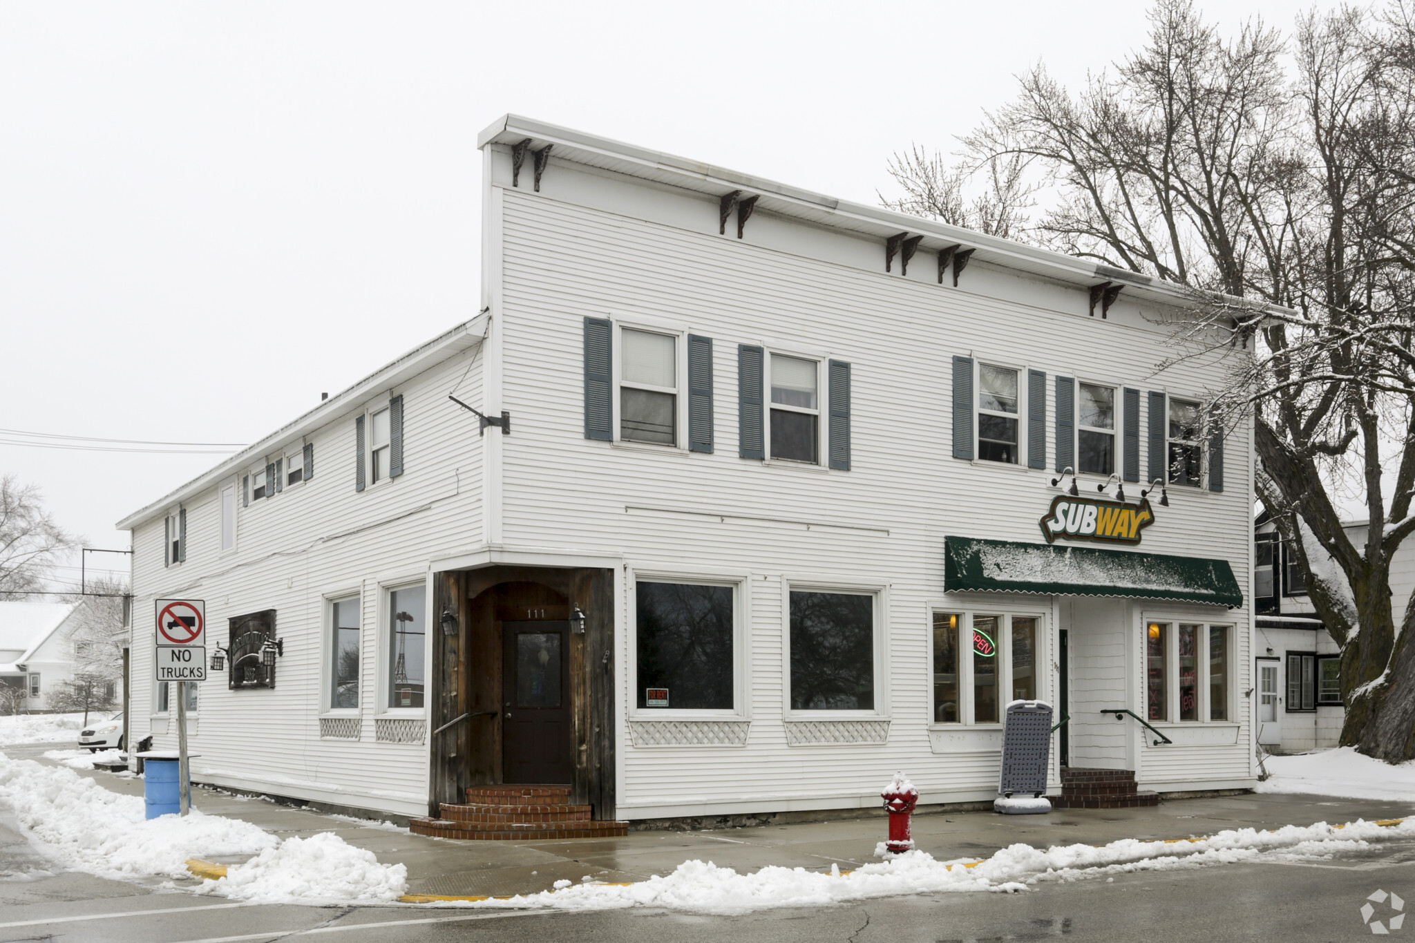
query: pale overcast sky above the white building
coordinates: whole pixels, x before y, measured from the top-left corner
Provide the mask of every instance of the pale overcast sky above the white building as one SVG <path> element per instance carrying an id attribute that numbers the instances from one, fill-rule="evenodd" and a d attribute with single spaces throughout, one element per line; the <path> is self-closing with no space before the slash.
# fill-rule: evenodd
<path id="1" fill-rule="evenodd" d="M 1310 4 L 1200 6 L 1290 28 Z M 1133 0 L 6 0 L 0 428 L 249 443 L 470 317 L 475 137 L 504 112 L 874 202 L 893 150 L 952 147 L 1032 62 L 1074 86 L 1145 27 Z M 119 517 L 218 458 L 0 444 L 0 474 L 126 547 Z"/>

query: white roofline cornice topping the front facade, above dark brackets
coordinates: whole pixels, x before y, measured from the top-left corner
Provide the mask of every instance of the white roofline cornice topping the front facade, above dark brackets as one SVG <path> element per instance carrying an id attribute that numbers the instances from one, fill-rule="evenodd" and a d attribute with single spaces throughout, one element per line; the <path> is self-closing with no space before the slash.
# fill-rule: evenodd
<path id="1" fill-rule="evenodd" d="M 485 148 L 488 144 L 509 147 L 526 139 L 531 139 L 531 147 L 536 150 L 546 144 L 555 144 L 555 150 L 550 151 L 552 157 L 644 177 L 710 197 L 720 197 L 723 192 L 732 189 L 749 189 L 761 198 L 757 209 L 775 212 L 782 216 L 795 216 L 816 225 L 846 229 L 853 233 L 870 235 L 880 239 L 887 239 L 899 232 L 910 232 L 913 235 L 923 235 L 925 239 L 931 238 L 920 246 L 921 250 L 938 250 L 945 246 L 961 245 L 966 249 L 978 250 L 974 256 L 975 262 L 1051 277 L 1078 287 L 1090 287 L 1098 280 L 1121 281 L 1125 283 L 1125 287 L 1132 294 L 1139 294 L 1167 305 L 1182 308 L 1196 307 L 1191 291 L 1184 286 L 1162 281 L 1138 271 L 1112 269 L 1085 259 L 1077 259 L 1075 256 L 1039 249 L 999 236 L 988 236 L 971 229 L 962 229 L 961 226 L 951 226 L 882 206 L 869 206 L 866 204 L 826 197 L 801 189 L 799 187 L 625 144 L 608 137 L 548 124 L 519 115 L 502 115 L 492 122 L 477 136 L 477 147 Z M 1227 295 L 1217 293 L 1210 297 L 1242 304 L 1238 298 L 1227 298 Z M 1281 311 L 1281 308 L 1274 305 L 1265 307 L 1266 310 Z"/>

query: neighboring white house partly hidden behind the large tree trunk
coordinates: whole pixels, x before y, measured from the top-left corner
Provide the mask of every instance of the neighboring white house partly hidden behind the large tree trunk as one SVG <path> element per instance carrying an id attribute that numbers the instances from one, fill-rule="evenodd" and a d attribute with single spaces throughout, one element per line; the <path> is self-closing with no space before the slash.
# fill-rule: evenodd
<path id="1" fill-rule="evenodd" d="M 1343 522 L 1357 547 L 1364 520 Z M 1254 704 L 1258 742 L 1269 752 L 1296 754 L 1336 746 L 1346 720 L 1341 650 L 1307 597 L 1306 575 L 1268 512 L 1254 520 Z M 1405 619 L 1415 590 L 1415 543 L 1391 561 L 1391 615 Z"/>

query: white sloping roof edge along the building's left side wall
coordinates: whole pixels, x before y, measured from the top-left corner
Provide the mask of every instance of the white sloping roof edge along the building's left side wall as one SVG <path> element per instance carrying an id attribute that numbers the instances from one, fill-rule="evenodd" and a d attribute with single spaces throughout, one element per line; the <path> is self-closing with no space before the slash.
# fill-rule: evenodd
<path id="1" fill-rule="evenodd" d="M 132 530 L 137 525 L 143 523 L 149 517 L 156 517 L 164 513 L 174 503 L 180 503 L 200 495 L 202 491 L 211 488 L 222 478 L 238 472 L 239 469 L 248 467 L 252 459 L 263 457 L 267 452 L 273 452 L 279 447 L 284 447 L 293 438 L 301 435 L 308 435 L 314 430 L 333 423 L 347 413 L 358 410 L 364 400 L 369 396 L 375 396 L 383 390 L 389 390 L 399 383 L 408 380 L 417 373 L 441 363 L 447 358 L 456 356 L 463 351 L 468 351 L 475 345 L 481 344 L 483 338 L 487 335 L 487 315 L 480 314 L 471 321 L 463 321 L 451 331 L 437 335 L 432 341 L 422 344 L 408 353 L 402 355 L 392 363 L 379 368 L 374 373 L 369 373 L 362 380 L 350 386 L 341 393 L 335 393 L 330 399 L 324 400 L 313 410 L 304 416 L 296 418 L 293 423 L 280 427 L 275 433 L 266 435 L 260 441 L 248 445 L 242 451 L 236 452 L 226 461 L 202 472 L 198 478 L 191 479 L 181 488 L 163 495 L 158 500 L 147 505 L 146 508 L 133 512 L 132 515 L 123 517 L 117 522 L 119 530 Z"/>

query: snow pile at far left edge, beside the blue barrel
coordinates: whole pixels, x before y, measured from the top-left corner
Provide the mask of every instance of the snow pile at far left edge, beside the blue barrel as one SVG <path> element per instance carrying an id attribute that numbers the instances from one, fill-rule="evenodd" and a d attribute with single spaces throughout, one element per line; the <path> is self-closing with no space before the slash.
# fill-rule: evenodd
<path id="1" fill-rule="evenodd" d="M 187 858 L 255 854 L 276 838 L 249 821 L 204 816 L 147 820 L 139 796 L 120 796 L 72 769 L 0 754 L 0 799 L 44 851 L 100 877 L 187 877 Z"/>

